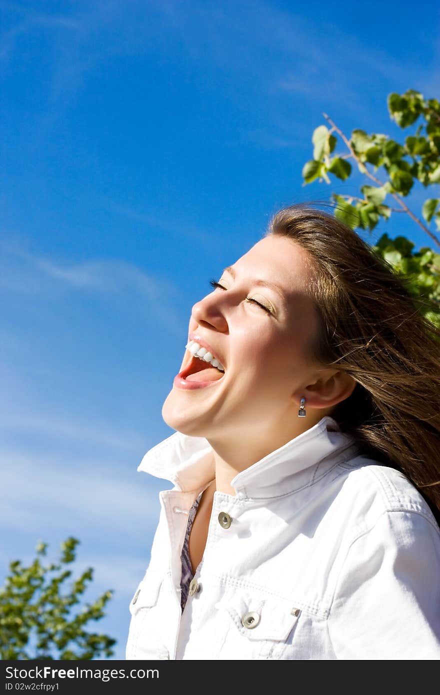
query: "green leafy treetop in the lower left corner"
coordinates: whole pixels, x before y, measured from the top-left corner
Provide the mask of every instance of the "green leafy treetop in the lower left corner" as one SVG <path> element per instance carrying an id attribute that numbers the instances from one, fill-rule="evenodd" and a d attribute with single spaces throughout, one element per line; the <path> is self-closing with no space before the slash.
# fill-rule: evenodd
<path id="1" fill-rule="evenodd" d="M 47 543 L 38 544 L 37 557 L 29 566 L 19 560 L 10 562 L 0 588 L 1 659 L 83 660 L 113 655 L 115 639 L 85 629 L 90 620 L 104 616 L 112 592 L 106 591 L 94 603 L 85 603 L 72 615 L 72 608 L 80 603 L 92 581 L 92 568 L 62 591 L 72 575 L 68 566 L 74 562 L 78 543 L 72 537 L 62 543 L 56 563 L 43 564 Z"/>

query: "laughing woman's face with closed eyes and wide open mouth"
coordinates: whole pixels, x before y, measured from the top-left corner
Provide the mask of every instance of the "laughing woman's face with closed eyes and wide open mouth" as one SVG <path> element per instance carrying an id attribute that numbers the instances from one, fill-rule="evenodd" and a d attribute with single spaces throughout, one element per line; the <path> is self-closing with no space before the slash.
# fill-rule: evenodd
<path id="1" fill-rule="evenodd" d="M 221 288 L 194 304 L 182 342 L 192 334 L 204 340 L 225 372 L 211 368 L 204 380 L 215 380 L 201 388 L 174 379 L 163 404 L 165 423 L 215 440 L 267 435 L 298 417 L 304 389 L 316 381 L 319 367 L 307 347 L 318 317 L 304 291 L 311 272 L 306 257 L 288 238 L 266 236 L 222 272 Z M 186 350 L 180 371 L 204 364 Z"/>

